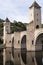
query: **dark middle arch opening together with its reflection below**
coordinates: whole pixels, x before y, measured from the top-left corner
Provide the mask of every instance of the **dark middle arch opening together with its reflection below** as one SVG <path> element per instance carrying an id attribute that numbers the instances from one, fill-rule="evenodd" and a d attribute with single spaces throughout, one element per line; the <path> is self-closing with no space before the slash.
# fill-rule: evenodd
<path id="1" fill-rule="evenodd" d="M 21 58 L 24 64 L 26 64 L 26 35 L 21 39 Z"/>

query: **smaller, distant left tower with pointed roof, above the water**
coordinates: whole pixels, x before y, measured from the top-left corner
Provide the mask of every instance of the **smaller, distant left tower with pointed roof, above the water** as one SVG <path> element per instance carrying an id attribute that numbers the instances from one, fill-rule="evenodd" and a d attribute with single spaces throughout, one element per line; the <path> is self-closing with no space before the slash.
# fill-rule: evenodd
<path id="1" fill-rule="evenodd" d="M 4 22 L 4 43 L 6 43 L 6 34 L 10 33 L 10 21 L 8 18 L 6 18 L 5 22 Z"/>

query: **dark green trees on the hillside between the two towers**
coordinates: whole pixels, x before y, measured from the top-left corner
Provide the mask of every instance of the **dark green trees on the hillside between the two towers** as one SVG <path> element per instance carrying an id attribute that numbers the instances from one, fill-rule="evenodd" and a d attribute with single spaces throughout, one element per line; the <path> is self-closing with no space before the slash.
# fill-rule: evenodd
<path id="1" fill-rule="evenodd" d="M 26 30 L 26 26 L 22 23 L 22 22 L 14 22 L 14 23 L 11 23 L 11 32 L 14 32 L 14 31 L 24 31 Z"/>

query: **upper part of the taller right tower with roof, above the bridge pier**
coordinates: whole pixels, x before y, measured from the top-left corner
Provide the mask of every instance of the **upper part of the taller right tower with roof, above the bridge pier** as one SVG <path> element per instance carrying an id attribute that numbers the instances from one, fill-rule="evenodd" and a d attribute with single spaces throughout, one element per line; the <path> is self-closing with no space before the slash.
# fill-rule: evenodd
<path id="1" fill-rule="evenodd" d="M 41 27 L 41 7 L 39 4 L 34 1 L 34 3 L 29 7 L 29 20 L 30 22 L 33 21 L 34 28 Z"/>

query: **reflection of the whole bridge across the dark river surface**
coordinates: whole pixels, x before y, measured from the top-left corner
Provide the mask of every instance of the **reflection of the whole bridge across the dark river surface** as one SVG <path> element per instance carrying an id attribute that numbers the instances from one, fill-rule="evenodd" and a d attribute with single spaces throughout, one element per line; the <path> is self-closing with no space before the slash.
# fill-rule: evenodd
<path id="1" fill-rule="evenodd" d="M 43 52 L 27 52 L 26 49 L 14 49 L 9 52 L 5 45 L 0 47 L 0 65 L 3 65 L 3 49 L 5 49 L 5 65 L 43 65 Z"/>

